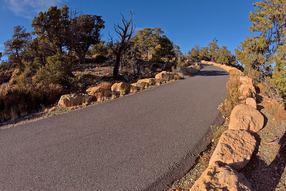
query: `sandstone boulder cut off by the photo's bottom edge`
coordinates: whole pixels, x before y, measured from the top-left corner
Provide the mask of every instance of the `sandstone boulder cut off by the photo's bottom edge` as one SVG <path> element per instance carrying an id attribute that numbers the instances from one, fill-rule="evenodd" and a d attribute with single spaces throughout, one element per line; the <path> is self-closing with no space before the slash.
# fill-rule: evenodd
<path id="1" fill-rule="evenodd" d="M 229 166 L 212 163 L 194 183 L 190 191 L 251 191 L 251 184 L 242 173 Z"/>

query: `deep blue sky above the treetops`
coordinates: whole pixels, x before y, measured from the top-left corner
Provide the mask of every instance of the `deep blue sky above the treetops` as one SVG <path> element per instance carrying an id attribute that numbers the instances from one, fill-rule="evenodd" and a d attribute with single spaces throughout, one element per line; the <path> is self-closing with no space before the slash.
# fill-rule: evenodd
<path id="1" fill-rule="evenodd" d="M 181 51 L 188 52 L 195 43 L 206 46 L 214 37 L 219 46 L 227 46 L 232 53 L 249 32 L 248 15 L 254 10 L 251 0 L 200 1 L 78 1 L 78 0 L 0 0 L 0 51 L 13 33 L 13 27 L 23 25 L 31 31 L 31 21 L 39 11 L 50 6 L 81 7 L 83 13 L 102 15 L 106 40 L 108 30 L 120 21 L 119 11 L 129 17 L 135 12 L 136 29 L 160 27 Z"/>

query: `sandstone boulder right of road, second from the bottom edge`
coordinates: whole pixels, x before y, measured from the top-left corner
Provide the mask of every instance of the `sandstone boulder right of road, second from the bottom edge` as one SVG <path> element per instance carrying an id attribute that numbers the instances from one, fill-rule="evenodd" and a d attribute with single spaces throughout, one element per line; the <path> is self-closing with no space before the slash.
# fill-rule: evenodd
<path id="1" fill-rule="evenodd" d="M 255 138 L 246 131 L 239 129 L 225 131 L 208 165 L 217 162 L 220 166 L 227 165 L 240 171 L 249 162 L 255 144 Z"/>

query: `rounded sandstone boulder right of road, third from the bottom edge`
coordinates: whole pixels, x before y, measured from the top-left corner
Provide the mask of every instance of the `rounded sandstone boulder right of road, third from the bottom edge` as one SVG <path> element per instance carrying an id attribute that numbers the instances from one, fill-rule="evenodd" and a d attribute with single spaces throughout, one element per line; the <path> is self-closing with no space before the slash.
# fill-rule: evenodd
<path id="1" fill-rule="evenodd" d="M 242 129 L 256 133 L 263 128 L 264 118 L 259 111 L 250 105 L 237 105 L 231 111 L 229 129 Z"/>

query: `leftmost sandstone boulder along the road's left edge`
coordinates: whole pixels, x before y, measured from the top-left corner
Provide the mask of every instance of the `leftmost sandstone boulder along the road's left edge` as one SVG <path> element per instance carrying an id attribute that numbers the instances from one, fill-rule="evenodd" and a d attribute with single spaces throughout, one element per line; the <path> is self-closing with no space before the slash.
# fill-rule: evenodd
<path id="1" fill-rule="evenodd" d="M 77 105 L 80 103 L 83 103 L 83 101 L 92 100 L 92 97 L 89 96 L 88 94 L 67 94 L 67 95 L 62 95 L 61 98 L 59 99 L 58 106 L 63 106 L 63 107 L 70 107 L 73 105 Z"/>

